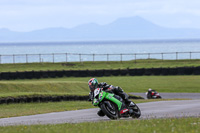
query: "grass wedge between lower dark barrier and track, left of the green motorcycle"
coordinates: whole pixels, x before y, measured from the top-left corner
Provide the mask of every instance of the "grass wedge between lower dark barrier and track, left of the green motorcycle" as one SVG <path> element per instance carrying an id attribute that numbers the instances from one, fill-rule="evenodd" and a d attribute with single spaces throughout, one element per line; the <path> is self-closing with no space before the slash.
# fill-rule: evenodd
<path id="1" fill-rule="evenodd" d="M 1 104 L 0 118 L 94 108 L 88 101 Z"/>

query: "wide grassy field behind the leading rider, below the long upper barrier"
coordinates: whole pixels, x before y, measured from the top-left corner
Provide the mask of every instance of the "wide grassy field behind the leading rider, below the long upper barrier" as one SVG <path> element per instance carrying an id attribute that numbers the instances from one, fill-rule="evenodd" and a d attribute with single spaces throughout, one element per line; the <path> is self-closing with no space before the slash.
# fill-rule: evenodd
<path id="1" fill-rule="evenodd" d="M 88 95 L 91 77 L 48 78 L 0 81 L 0 97 L 22 95 Z M 99 77 L 99 82 L 120 86 L 127 93 L 145 93 L 148 88 L 158 92 L 200 93 L 200 76 L 115 76 Z"/>

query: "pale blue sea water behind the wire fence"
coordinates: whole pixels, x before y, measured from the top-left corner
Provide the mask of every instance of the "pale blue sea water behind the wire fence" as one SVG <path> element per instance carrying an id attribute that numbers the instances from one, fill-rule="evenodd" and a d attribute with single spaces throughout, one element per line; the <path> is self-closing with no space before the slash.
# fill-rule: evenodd
<path id="1" fill-rule="evenodd" d="M 200 59 L 200 41 L 0 43 L 0 63 Z"/>

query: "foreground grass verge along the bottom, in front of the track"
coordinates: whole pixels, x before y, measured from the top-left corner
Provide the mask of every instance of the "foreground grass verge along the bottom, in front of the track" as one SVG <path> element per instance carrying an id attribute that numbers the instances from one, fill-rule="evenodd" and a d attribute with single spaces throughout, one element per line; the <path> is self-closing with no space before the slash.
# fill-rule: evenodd
<path id="1" fill-rule="evenodd" d="M 7 126 L 3 133 L 199 133 L 200 118 L 135 119 L 92 123 Z"/>

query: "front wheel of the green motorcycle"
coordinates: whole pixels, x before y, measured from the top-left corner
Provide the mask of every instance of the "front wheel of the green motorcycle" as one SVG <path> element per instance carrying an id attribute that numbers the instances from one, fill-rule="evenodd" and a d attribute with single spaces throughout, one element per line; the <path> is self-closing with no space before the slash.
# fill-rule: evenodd
<path id="1" fill-rule="evenodd" d="M 109 117 L 110 119 L 112 120 L 116 120 L 118 118 L 118 108 L 117 108 L 117 105 L 110 102 L 110 101 L 107 101 L 110 103 L 111 107 L 110 108 L 105 102 L 101 105 L 101 109 L 102 111 L 104 112 L 104 114 Z"/>

